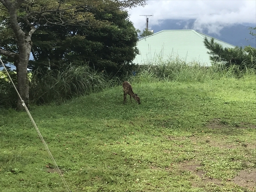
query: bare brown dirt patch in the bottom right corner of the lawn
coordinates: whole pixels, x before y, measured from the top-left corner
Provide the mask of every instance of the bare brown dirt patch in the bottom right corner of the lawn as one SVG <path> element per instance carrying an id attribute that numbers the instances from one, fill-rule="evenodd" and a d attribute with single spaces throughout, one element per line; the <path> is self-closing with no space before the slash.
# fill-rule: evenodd
<path id="1" fill-rule="evenodd" d="M 234 177 L 232 181 L 242 187 L 246 187 L 249 190 L 255 191 L 256 185 L 256 172 L 255 169 L 241 170 L 238 176 Z"/>

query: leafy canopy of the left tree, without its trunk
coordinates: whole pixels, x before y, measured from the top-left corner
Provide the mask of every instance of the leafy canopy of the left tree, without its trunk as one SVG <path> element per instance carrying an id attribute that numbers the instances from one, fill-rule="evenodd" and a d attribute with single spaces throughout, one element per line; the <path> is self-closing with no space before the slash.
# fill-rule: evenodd
<path id="1" fill-rule="evenodd" d="M 18 25 L 25 34 L 29 34 L 31 29 L 37 30 L 41 26 L 86 26 L 97 28 L 105 23 L 104 19 L 98 20 L 93 12 L 104 12 L 123 10 L 136 6 L 144 6 L 146 0 L 87 0 L 87 1 L 54 1 L 54 0 L 0 0 L 0 53 L 6 57 L 6 51 L 18 53 L 16 34 L 13 33 L 10 24 L 10 13 L 5 5 L 13 3 L 17 7 L 17 13 L 12 16 L 17 17 Z M 108 22 L 108 21 L 107 21 Z M 5 62 L 14 62 L 13 58 L 6 58 Z"/>

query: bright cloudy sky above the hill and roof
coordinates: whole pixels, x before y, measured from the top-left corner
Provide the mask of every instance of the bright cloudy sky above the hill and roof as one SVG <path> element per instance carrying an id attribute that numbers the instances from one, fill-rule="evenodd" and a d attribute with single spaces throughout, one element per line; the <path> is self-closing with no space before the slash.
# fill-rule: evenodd
<path id="1" fill-rule="evenodd" d="M 256 23 L 255 0 L 149 0 L 145 7 L 129 10 L 130 20 L 136 29 L 145 28 L 145 16 L 149 17 L 149 28 L 160 25 L 164 19 L 196 19 L 195 30 L 206 27 L 218 33 L 222 26 Z"/>

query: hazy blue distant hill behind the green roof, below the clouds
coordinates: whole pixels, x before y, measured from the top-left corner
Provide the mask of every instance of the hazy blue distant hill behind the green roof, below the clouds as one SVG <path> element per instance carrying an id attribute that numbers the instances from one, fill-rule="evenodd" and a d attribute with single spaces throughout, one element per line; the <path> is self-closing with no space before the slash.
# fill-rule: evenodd
<path id="1" fill-rule="evenodd" d="M 195 19 L 166 19 L 162 20 L 160 25 L 151 26 L 150 29 L 154 30 L 154 33 L 167 29 L 194 29 L 194 24 Z M 202 30 L 200 30 L 200 32 L 212 36 L 214 38 L 223 40 L 225 42 L 228 42 L 229 44 L 234 46 L 244 47 L 250 45 L 251 47 L 256 47 L 255 38 L 252 39 L 253 36 L 249 34 L 249 27 L 254 28 L 255 24 L 246 23 L 243 25 L 229 25 L 220 30 L 220 35 L 217 35 L 215 33 L 209 33 L 206 28 L 203 28 Z"/>

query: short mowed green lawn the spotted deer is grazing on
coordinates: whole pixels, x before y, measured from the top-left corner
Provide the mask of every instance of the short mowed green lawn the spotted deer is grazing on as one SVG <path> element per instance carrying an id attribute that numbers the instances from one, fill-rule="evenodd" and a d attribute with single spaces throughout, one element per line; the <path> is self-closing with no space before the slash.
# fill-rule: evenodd
<path id="1" fill-rule="evenodd" d="M 31 107 L 72 191 L 255 191 L 255 76 L 132 86 L 140 105 L 119 86 Z M 0 190 L 66 191 L 28 115 L 0 119 Z"/>

